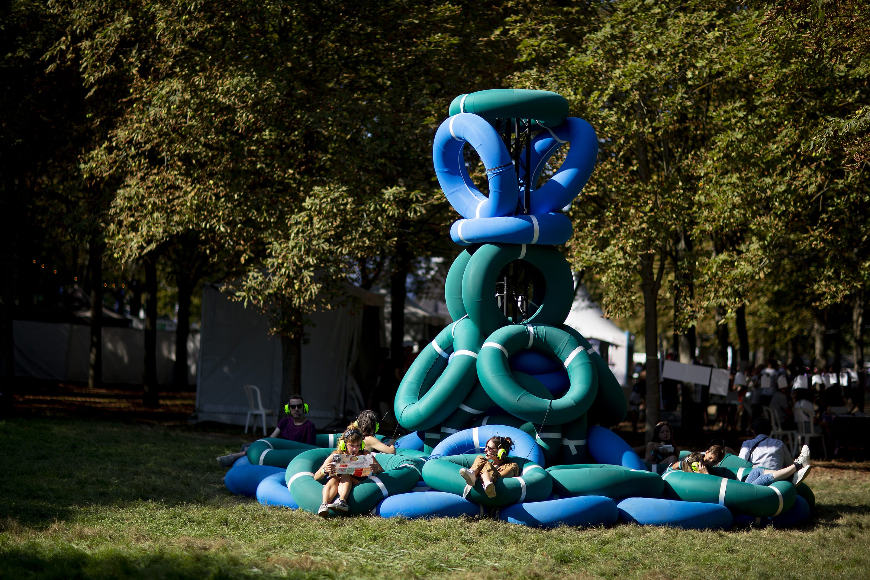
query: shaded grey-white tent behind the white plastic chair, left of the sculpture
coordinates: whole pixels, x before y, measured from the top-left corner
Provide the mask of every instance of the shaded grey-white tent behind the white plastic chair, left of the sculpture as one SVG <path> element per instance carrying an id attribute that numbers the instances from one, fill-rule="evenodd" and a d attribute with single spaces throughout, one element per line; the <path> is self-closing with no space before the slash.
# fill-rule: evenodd
<path id="1" fill-rule="evenodd" d="M 363 303 L 383 298 L 356 286 Z M 349 369 L 357 357 L 362 315 L 348 306 L 312 314 L 302 346 L 302 396 L 318 429 L 344 427 L 345 414 L 362 410 L 362 396 Z M 203 289 L 197 381 L 197 421 L 244 424 L 249 410 L 245 384 L 260 390 L 263 406 L 283 417 L 281 340 L 269 334 L 269 318 L 232 301 L 215 286 Z M 262 425 L 262 423 L 260 423 Z"/>

